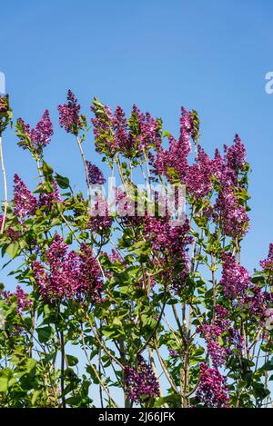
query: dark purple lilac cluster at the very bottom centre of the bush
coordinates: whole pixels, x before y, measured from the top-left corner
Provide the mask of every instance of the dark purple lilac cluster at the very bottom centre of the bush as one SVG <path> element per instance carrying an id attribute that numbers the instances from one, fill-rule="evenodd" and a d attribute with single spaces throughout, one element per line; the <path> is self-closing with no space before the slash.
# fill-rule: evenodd
<path id="1" fill-rule="evenodd" d="M 126 396 L 131 401 L 143 402 L 159 396 L 159 383 L 150 365 L 139 356 L 137 367 L 125 367 Z"/>

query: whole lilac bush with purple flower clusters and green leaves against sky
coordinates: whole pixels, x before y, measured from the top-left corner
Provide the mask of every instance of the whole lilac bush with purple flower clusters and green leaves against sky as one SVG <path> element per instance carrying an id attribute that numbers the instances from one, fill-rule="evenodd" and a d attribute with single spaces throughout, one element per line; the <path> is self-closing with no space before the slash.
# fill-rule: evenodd
<path id="1" fill-rule="evenodd" d="M 15 264 L 16 285 L 0 288 L 0 406 L 270 406 L 273 244 L 258 270 L 241 263 L 249 164 L 238 134 L 210 158 L 185 107 L 177 136 L 136 105 L 126 116 L 95 98 L 86 117 L 70 90 L 57 111 L 87 195 L 45 162 L 57 144 L 48 110 L 34 128 L 18 118 L 38 180 L 31 189 L 15 174 L 0 214 L 3 268 Z M 9 124 L 5 95 L 5 183 Z M 108 176 L 86 159 L 92 144 Z"/>

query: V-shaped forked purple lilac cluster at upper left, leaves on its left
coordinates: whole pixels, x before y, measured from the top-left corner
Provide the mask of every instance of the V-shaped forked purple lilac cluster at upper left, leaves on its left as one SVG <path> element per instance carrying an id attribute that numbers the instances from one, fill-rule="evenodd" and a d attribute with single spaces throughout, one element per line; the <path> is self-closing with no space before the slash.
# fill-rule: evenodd
<path id="1" fill-rule="evenodd" d="M 51 136 L 54 134 L 48 110 L 45 110 L 34 129 L 31 129 L 29 124 L 25 124 L 22 118 L 18 118 L 16 129 L 19 136 L 18 145 L 38 154 L 50 143 Z"/>

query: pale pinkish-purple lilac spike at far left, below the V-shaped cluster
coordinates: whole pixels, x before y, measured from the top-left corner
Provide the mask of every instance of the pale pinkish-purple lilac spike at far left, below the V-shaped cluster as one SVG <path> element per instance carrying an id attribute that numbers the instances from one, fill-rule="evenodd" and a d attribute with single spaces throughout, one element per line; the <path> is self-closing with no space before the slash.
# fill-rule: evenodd
<path id="1" fill-rule="evenodd" d="M 14 177 L 14 213 L 20 219 L 35 213 L 37 201 L 22 179 L 15 174 Z"/>

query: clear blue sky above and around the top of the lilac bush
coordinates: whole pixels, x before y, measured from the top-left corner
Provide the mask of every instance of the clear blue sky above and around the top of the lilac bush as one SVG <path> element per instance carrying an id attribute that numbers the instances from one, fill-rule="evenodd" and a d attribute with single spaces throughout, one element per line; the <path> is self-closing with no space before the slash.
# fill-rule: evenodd
<path id="1" fill-rule="evenodd" d="M 271 0 L 12 0 L 0 7 L 0 71 L 15 117 L 35 124 L 71 88 L 86 108 L 93 96 L 126 111 L 133 103 L 162 116 L 176 133 L 180 105 L 202 120 L 204 148 L 212 154 L 235 133 L 251 163 L 251 231 L 242 257 L 252 268 L 272 235 L 273 71 Z M 35 164 L 5 136 L 11 195 L 19 173 L 35 187 Z M 92 141 L 86 156 L 97 163 Z M 45 160 L 82 185 L 73 138 L 56 129 Z M 2 195 L 1 195 L 2 196 Z"/>

